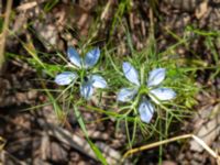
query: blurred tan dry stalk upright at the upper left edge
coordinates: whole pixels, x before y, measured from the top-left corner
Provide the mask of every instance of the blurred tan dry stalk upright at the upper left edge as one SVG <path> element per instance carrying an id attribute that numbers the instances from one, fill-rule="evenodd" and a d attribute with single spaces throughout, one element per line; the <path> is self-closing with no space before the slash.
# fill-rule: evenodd
<path id="1" fill-rule="evenodd" d="M 3 62 L 4 62 L 4 45 L 6 45 L 6 38 L 7 38 L 7 34 L 8 34 L 8 26 L 9 26 L 11 7 L 12 7 L 12 0 L 8 0 L 7 1 L 7 11 L 6 11 L 3 29 L 2 29 L 2 33 L 1 33 L 1 36 L 0 36 L 0 70 L 2 69 L 2 65 L 3 65 Z"/>

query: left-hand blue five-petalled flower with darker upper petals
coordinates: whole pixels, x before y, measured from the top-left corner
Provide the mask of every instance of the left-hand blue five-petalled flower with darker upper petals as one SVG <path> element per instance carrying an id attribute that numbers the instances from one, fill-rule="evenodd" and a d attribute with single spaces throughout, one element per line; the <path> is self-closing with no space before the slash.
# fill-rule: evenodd
<path id="1" fill-rule="evenodd" d="M 85 99 L 89 99 L 94 94 L 94 88 L 107 88 L 107 81 L 103 77 L 97 74 L 88 74 L 88 69 L 94 67 L 100 56 L 100 50 L 94 48 L 88 52 L 85 58 L 81 58 L 74 47 L 68 47 L 67 56 L 69 61 L 81 72 L 80 74 L 80 95 Z M 64 72 L 55 77 L 57 85 L 64 86 L 74 84 L 78 74 L 76 72 Z"/>

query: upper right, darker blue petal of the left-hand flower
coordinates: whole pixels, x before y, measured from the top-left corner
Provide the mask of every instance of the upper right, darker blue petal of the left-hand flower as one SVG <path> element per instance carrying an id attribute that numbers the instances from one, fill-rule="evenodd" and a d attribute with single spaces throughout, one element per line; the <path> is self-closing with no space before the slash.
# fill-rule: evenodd
<path id="1" fill-rule="evenodd" d="M 85 67 L 88 68 L 96 65 L 99 59 L 99 56 L 100 56 L 100 50 L 98 47 L 88 52 L 85 57 Z"/>

